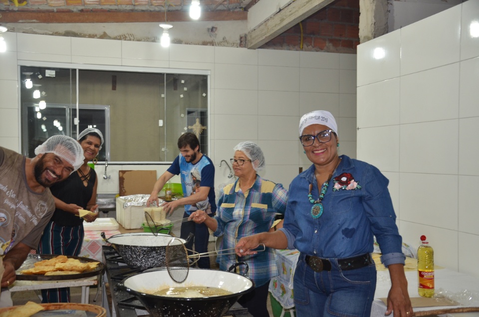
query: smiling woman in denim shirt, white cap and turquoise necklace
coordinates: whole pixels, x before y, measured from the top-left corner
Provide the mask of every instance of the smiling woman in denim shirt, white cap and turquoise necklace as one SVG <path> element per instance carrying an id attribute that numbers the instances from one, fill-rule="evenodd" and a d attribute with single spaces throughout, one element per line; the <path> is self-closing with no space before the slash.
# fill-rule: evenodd
<path id="1" fill-rule="evenodd" d="M 392 282 L 386 315 L 394 311 L 394 317 L 410 317 L 405 256 L 387 178 L 370 164 L 338 155 L 337 124 L 328 111 L 305 114 L 299 135 L 313 164 L 291 182 L 283 228 L 242 238 L 238 255 L 254 254 L 250 249 L 259 243 L 297 249 L 297 316 L 369 317 L 376 290 L 370 256 L 376 236 Z"/>

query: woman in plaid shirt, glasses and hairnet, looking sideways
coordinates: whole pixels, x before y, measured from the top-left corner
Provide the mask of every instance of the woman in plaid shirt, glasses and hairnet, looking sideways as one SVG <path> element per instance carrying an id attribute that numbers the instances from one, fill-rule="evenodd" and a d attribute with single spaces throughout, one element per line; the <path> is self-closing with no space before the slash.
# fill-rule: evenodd
<path id="1" fill-rule="evenodd" d="M 204 211 L 196 211 L 190 219 L 205 223 L 216 237 L 223 236 L 221 249 L 234 248 L 240 238 L 267 232 L 277 213 L 284 214 L 287 191 L 281 184 L 261 178 L 256 172 L 264 168 L 264 155 L 253 142 L 241 142 L 231 159 L 237 181 L 225 186 L 220 193 L 218 210 L 214 218 Z M 227 252 L 230 253 L 230 252 Z M 274 251 L 266 248 L 252 256 L 219 255 L 220 270 L 227 271 L 237 262 L 246 262 L 249 271 L 240 266 L 240 274 L 255 284 L 255 289 L 243 295 L 238 303 L 254 317 L 269 316 L 266 308 L 269 280 L 277 275 Z"/>

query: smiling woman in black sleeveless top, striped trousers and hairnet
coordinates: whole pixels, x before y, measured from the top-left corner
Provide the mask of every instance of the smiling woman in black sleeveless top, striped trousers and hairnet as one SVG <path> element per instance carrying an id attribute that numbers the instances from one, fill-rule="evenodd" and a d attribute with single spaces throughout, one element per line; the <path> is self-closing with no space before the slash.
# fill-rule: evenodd
<path id="1" fill-rule="evenodd" d="M 78 256 L 83 243 L 83 220 L 92 222 L 98 217 L 96 208 L 96 188 L 98 185 L 95 171 L 88 166 L 103 144 L 100 130 L 87 128 L 78 135 L 78 143 L 83 149 L 83 164 L 64 182 L 50 187 L 55 199 L 55 212 L 43 230 L 38 245 L 39 254 Z M 79 209 L 89 210 L 93 214 L 79 217 Z M 42 290 L 42 303 L 69 303 L 69 288 Z"/>

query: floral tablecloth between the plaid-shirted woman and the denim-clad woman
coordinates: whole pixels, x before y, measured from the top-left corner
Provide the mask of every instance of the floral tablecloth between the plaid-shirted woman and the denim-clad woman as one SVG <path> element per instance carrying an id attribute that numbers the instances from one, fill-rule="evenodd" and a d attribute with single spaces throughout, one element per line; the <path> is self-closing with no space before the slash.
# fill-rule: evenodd
<path id="1" fill-rule="evenodd" d="M 279 275 L 269 282 L 269 292 L 284 309 L 294 307 L 293 275 L 298 258 L 299 251 L 297 250 L 276 250 Z"/>

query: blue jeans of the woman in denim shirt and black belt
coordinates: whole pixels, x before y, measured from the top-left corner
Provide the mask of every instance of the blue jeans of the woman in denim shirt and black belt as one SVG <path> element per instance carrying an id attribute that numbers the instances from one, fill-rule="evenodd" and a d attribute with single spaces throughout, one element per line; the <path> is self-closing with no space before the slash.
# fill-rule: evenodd
<path id="1" fill-rule="evenodd" d="M 376 266 L 341 271 L 331 261 L 331 271 L 314 272 L 298 260 L 294 273 L 294 305 L 298 317 L 369 317 L 376 291 Z"/>

